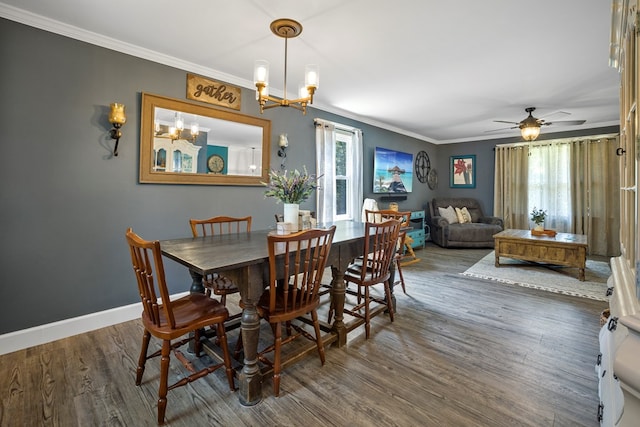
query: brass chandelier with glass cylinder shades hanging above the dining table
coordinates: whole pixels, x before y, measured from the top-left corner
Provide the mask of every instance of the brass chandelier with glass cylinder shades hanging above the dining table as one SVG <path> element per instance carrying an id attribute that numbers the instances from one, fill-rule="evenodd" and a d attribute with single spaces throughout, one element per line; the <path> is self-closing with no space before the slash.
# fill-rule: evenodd
<path id="1" fill-rule="evenodd" d="M 282 99 L 269 95 L 269 63 L 257 60 L 253 69 L 253 82 L 256 85 L 256 99 L 260 104 L 260 113 L 274 107 L 294 107 L 307 114 L 307 104 L 313 104 L 313 94 L 318 88 L 319 73 L 317 65 L 305 68 L 304 86 L 300 88 L 299 98 L 287 99 L 287 41 L 302 33 L 302 25 L 293 19 L 276 19 L 271 23 L 271 32 L 284 38 L 284 97 Z"/>

